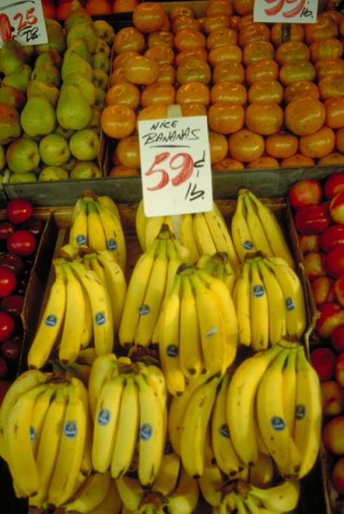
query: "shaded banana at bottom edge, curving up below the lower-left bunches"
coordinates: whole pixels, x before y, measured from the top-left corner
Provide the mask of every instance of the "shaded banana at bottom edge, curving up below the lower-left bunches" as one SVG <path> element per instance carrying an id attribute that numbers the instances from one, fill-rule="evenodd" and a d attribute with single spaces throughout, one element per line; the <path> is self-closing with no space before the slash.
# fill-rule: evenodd
<path id="1" fill-rule="evenodd" d="M 65 505 L 65 512 L 78 511 L 80 514 L 89 513 L 99 506 L 107 496 L 111 484 L 110 473 L 94 473 L 87 478 L 85 484 L 76 495 L 75 500 Z"/>

